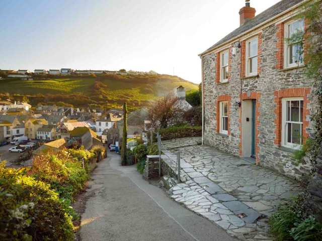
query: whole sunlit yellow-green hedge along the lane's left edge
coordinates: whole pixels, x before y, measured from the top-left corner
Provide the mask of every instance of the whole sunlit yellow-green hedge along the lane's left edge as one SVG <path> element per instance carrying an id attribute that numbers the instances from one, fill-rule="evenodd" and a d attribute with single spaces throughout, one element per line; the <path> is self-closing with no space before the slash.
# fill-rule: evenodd
<path id="1" fill-rule="evenodd" d="M 70 206 L 89 178 L 95 151 L 46 152 L 32 167 L 0 164 L 0 240 L 74 240 Z M 83 164 L 84 160 L 84 164 Z"/>

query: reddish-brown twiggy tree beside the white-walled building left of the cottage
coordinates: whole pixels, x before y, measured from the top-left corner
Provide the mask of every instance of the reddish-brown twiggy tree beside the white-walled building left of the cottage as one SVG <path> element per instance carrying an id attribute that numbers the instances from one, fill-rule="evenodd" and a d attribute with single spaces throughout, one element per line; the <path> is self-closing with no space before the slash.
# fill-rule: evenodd
<path id="1" fill-rule="evenodd" d="M 152 128 L 168 128 L 180 122 L 180 119 L 176 118 L 176 113 L 181 112 L 175 105 L 177 100 L 176 96 L 168 94 L 154 102 L 149 108 L 149 119 L 151 120 Z"/>

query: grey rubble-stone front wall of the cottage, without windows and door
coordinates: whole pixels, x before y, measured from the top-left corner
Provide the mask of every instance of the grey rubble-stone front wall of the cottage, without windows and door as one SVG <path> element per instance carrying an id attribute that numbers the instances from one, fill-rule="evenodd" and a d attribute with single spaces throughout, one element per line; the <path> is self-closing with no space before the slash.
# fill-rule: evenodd
<path id="1" fill-rule="evenodd" d="M 278 25 L 272 24 L 263 29 L 259 36 L 259 75 L 251 78 L 241 78 L 241 48 L 236 41 L 227 48 L 231 51 L 236 47 L 236 54 L 229 55 L 229 82 L 216 83 L 217 76 L 217 52 L 206 54 L 202 57 L 203 63 L 203 93 L 204 93 L 204 141 L 205 144 L 215 146 L 234 155 L 241 154 L 241 109 L 235 110 L 233 103 L 240 101 L 241 96 L 257 96 L 257 163 L 265 167 L 278 170 L 287 176 L 301 177 L 309 169 L 307 164 L 295 166 L 292 164 L 292 152 L 280 146 L 278 132 L 279 114 L 278 99 L 284 89 L 289 92 L 303 92 L 304 122 L 309 122 L 309 114 L 312 109 L 313 80 L 305 77 L 305 68 L 279 69 Z M 257 33 L 258 34 L 258 33 Z M 261 42 L 261 43 L 260 43 Z M 282 91 L 283 92 L 283 91 Z M 222 135 L 217 131 L 217 98 L 218 96 L 230 96 L 229 104 L 229 132 Z M 284 96 L 285 97 L 285 96 Z M 247 97 L 246 97 L 247 98 Z M 304 124 L 303 124 L 304 126 Z M 308 128 L 308 125 L 306 125 Z M 307 130 L 303 130 L 303 136 L 308 136 Z"/>

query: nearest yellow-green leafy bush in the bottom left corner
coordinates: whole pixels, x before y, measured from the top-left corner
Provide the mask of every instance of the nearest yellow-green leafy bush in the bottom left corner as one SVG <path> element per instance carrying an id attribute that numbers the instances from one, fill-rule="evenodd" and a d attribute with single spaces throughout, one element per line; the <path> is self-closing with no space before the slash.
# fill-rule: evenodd
<path id="1" fill-rule="evenodd" d="M 26 172 L 0 164 L 0 239 L 73 240 L 71 216 L 58 194 Z"/>

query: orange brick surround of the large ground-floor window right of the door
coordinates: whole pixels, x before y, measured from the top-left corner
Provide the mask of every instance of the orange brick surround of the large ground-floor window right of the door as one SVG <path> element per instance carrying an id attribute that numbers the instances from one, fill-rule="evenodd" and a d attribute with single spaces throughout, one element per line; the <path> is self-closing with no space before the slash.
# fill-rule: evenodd
<path id="1" fill-rule="evenodd" d="M 302 128 L 302 136 L 305 142 L 305 139 L 308 138 L 308 134 L 306 133 L 306 128 L 309 126 L 309 122 L 306 121 L 306 116 L 309 115 L 308 103 L 310 102 L 308 99 L 308 95 L 311 92 L 311 88 L 289 88 L 289 89 L 281 89 L 274 91 L 274 102 L 276 103 L 275 114 L 276 118 L 274 124 L 276 125 L 275 129 L 275 140 L 274 144 L 280 146 L 282 142 L 282 98 L 286 97 L 303 97 L 303 128 Z"/>

